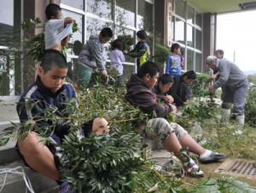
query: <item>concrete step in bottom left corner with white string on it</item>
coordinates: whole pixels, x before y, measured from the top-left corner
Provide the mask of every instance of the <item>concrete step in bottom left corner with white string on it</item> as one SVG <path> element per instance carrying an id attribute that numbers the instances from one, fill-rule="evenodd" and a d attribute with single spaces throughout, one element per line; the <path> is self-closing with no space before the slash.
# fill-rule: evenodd
<path id="1" fill-rule="evenodd" d="M 16 168 L 16 171 L 14 170 Z M 11 170 L 16 173 L 11 173 Z M 12 162 L 0 167 L 0 192 L 1 193 L 25 193 L 26 183 L 21 173 L 22 169 L 26 173 L 32 184 L 32 190 L 35 193 L 57 193 L 58 185 L 54 180 L 45 177 L 44 175 L 33 171 L 26 167 L 23 162 Z M 9 173 L 6 175 L 6 171 Z M 18 173 L 20 172 L 20 173 Z M 3 189 L 2 189 L 3 188 Z M 2 189 L 2 190 L 1 190 Z M 27 190 L 27 192 L 31 192 Z"/>

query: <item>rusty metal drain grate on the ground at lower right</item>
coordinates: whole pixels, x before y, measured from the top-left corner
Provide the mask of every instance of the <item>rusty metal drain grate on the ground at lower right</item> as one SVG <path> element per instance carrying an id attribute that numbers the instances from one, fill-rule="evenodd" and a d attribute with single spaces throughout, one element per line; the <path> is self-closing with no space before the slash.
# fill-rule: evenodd
<path id="1" fill-rule="evenodd" d="M 231 176 L 243 176 L 248 179 L 256 179 L 256 167 L 253 167 L 252 162 L 227 159 L 214 172 L 229 174 Z"/>

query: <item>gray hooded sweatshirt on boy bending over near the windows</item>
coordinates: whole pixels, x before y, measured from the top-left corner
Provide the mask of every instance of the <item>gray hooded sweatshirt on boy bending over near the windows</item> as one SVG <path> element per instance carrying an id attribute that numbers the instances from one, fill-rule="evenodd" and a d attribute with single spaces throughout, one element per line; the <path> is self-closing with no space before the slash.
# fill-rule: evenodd
<path id="1" fill-rule="evenodd" d="M 98 68 L 99 71 L 106 71 L 104 48 L 99 37 L 91 36 L 79 54 L 79 64 L 90 68 Z"/>

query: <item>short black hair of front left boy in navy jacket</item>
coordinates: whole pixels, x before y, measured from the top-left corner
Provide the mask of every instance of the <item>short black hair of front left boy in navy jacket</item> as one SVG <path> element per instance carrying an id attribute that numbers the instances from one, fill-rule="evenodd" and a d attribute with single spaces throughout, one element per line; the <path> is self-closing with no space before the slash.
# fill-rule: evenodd
<path id="1" fill-rule="evenodd" d="M 45 51 L 40 66 L 43 68 L 44 73 L 46 73 L 47 71 L 50 71 L 53 66 L 67 68 L 67 60 L 58 50 L 48 49 Z"/>

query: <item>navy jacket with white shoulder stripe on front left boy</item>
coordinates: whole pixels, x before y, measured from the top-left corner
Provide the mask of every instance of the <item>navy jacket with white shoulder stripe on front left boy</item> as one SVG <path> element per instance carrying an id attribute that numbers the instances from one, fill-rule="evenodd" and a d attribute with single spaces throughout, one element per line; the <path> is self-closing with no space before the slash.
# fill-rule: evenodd
<path id="1" fill-rule="evenodd" d="M 27 120 L 37 121 L 33 130 L 37 133 L 43 132 L 44 128 L 48 131 L 44 134 L 50 135 L 58 144 L 63 136 L 68 132 L 69 126 L 66 124 L 69 114 L 67 112 L 67 103 L 74 99 L 75 105 L 69 105 L 74 110 L 77 108 L 77 94 L 70 83 L 65 82 L 62 87 L 56 92 L 52 92 L 50 88 L 44 87 L 37 77 L 36 82 L 33 82 L 29 88 L 20 96 L 20 102 L 17 105 L 17 112 L 20 117 L 20 122 Z M 47 114 L 45 109 L 51 109 L 53 115 Z M 63 119 L 54 119 L 61 117 Z M 41 133 L 42 134 L 42 133 Z"/>

